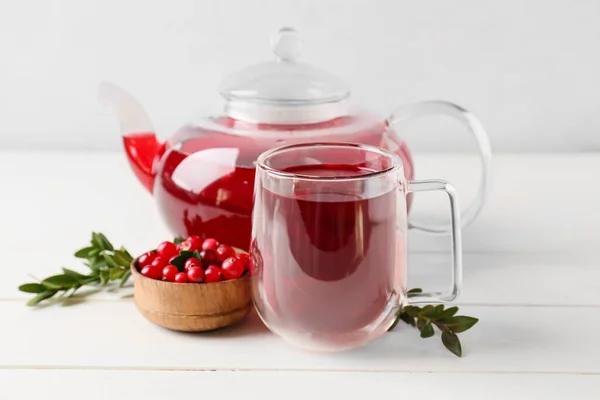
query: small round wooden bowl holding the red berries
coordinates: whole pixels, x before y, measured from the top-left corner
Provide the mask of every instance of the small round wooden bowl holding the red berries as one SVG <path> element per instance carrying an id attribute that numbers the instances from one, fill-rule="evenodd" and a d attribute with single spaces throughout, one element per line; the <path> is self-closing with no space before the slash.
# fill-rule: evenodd
<path id="1" fill-rule="evenodd" d="M 241 321 L 252 307 L 250 276 L 215 283 L 172 283 L 146 278 L 131 263 L 134 300 L 150 322 L 181 332 L 202 332 Z"/>

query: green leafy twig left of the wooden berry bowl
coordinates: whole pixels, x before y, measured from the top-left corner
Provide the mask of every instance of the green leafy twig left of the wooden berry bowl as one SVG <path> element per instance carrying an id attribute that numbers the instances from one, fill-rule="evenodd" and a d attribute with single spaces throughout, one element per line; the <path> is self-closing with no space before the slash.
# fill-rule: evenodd
<path id="1" fill-rule="evenodd" d="M 122 287 L 131 275 L 129 265 L 133 257 L 121 247 L 115 250 L 112 243 L 102 233 L 92 232 L 90 246 L 79 249 L 75 257 L 85 259 L 84 263 L 89 269 L 89 274 L 63 268 L 63 273 L 52 275 L 40 282 L 25 283 L 19 286 L 19 290 L 25 293 L 33 293 L 27 305 L 35 306 L 52 297 L 64 299 L 73 296 L 75 292 L 86 285 L 107 285 L 109 282 L 119 280 Z"/>

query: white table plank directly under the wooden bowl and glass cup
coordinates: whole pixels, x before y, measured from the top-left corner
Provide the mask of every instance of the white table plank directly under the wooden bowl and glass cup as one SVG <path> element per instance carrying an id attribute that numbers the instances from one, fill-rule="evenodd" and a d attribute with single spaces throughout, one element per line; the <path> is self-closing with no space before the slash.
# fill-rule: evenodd
<path id="1" fill-rule="evenodd" d="M 369 346 L 343 353 L 297 350 L 256 316 L 204 334 L 156 327 L 132 302 L 25 308 L 0 302 L 4 367 L 194 368 L 202 370 L 346 370 L 395 372 L 544 372 L 600 374 L 600 312 L 587 307 L 464 306 L 481 321 L 461 334 L 464 357 L 439 337 L 402 326 Z M 580 321 L 577 327 L 573 321 Z"/>

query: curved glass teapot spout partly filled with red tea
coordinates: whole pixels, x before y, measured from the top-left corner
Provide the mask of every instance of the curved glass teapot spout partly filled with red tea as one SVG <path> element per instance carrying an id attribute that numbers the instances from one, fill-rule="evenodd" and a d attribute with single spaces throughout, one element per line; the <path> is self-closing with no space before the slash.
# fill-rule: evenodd
<path id="1" fill-rule="evenodd" d="M 164 152 L 164 144 L 158 141 L 150 119 L 133 96 L 110 82 L 100 84 L 98 97 L 101 103 L 116 111 L 129 165 L 140 183 L 152 193 L 156 177 L 154 163 Z"/>

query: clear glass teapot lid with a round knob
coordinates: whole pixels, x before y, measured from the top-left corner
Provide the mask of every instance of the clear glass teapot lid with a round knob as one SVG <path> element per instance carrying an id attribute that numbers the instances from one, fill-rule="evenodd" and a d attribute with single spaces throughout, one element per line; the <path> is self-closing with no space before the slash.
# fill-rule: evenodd
<path id="1" fill-rule="evenodd" d="M 292 28 L 271 39 L 274 61 L 244 68 L 220 87 L 226 111 L 254 122 L 318 122 L 345 114 L 348 87 L 336 76 L 298 61 L 301 40 Z M 340 114 L 340 115 L 338 115 Z"/>

